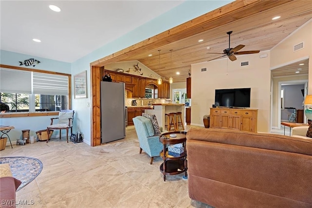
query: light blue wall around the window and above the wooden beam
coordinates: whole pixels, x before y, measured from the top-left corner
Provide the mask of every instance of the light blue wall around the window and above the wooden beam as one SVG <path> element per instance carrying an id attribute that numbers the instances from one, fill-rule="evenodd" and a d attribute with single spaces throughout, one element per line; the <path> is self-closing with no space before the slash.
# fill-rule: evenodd
<path id="1" fill-rule="evenodd" d="M 91 89 L 91 80 L 90 80 L 90 63 L 98 60 L 99 58 L 106 57 L 111 55 L 117 51 L 120 51 L 124 48 L 127 48 L 133 44 L 136 44 L 144 39 L 153 37 L 159 33 L 162 33 L 166 30 L 169 30 L 179 24 L 182 24 L 186 21 L 199 17 L 203 14 L 206 14 L 218 7 L 221 7 L 225 4 L 232 2 L 233 0 L 187 0 L 182 4 L 178 5 L 176 8 L 164 13 L 163 15 L 153 19 L 140 27 L 137 27 L 135 30 L 129 32 L 128 34 L 117 38 L 116 40 L 101 46 L 99 45 L 99 49 L 88 54 L 85 57 L 78 59 L 73 63 L 65 63 L 55 60 L 50 60 L 46 58 L 33 57 L 24 54 L 17 54 L 7 51 L 1 51 L 0 54 L 0 63 L 12 66 L 19 66 L 18 61 L 23 61 L 29 58 L 35 58 L 41 63 L 35 69 L 47 70 L 47 71 L 55 71 L 72 74 L 72 89 L 73 87 L 73 76 L 87 70 L 87 87 L 88 87 L 88 97 L 86 99 L 74 99 L 74 91 L 72 92 L 72 109 L 75 110 L 75 123 L 74 131 L 80 131 L 84 135 L 84 142 L 87 144 L 91 144 L 91 108 L 87 107 L 87 104 L 90 103 L 92 106 L 90 99 L 90 89 Z M 109 33 L 114 33 L 114 31 L 108 31 Z M 103 34 L 105 36 L 105 34 Z M 15 123 L 15 126 L 21 126 L 22 128 L 18 128 L 15 132 L 12 130 L 15 136 L 18 136 L 20 129 L 25 129 L 28 122 L 37 123 L 37 125 L 30 126 L 34 130 L 37 131 L 43 126 L 45 126 L 46 120 L 49 118 L 43 116 L 35 117 L 35 118 L 10 118 L 7 121 L 11 125 L 11 123 Z M 35 119 L 35 120 L 33 120 Z M 1 123 L 4 122 L 3 120 Z M 43 125 L 42 127 L 40 125 Z M 40 127 L 39 127 L 40 126 Z M 30 128 L 28 127 L 28 129 Z M 26 128 L 27 129 L 27 128 Z"/>

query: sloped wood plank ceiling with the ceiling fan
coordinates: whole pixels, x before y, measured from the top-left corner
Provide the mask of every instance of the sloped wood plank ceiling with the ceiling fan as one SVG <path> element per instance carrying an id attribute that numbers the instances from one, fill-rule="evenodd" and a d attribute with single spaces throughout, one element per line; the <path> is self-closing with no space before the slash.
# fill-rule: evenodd
<path id="1" fill-rule="evenodd" d="M 275 16 L 281 18 L 272 20 Z M 196 20 L 199 22 L 203 19 L 204 23 L 196 24 Z M 246 46 L 241 51 L 265 51 L 272 49 L 309 19 L 312 19 L 310 0 L 238 0 L 113 55 L 103 57 L 91 65 L 105 66 L 117 61 L 138 60 L 166 80 L 172 76 L 174 82 L 185 82 L 191 64 L 219 57 L 220 55 L 207 53 L 223 53 L 223 50 L 229 47 L 226 32 L 233 31 L 231 48 L 243 44 Z M 189 26 L 190 29 L 181 29 L 182 26 Z M 179 30 L 182 32 L 179 33 Z M 199 39 L 203 41 L 198 42 Z M 172 61 L 170 61 L 171 49 Z M 160 64 L 158 50 L 161 50 Z M 285 69 L 276 69 L 273 76 L 280 76 L 297 68 L 298 64 L 292 64 Z M 299 74 L 308 73 L 308 63 L 300 68 L 302 70 Z M 177 71 L 180 75 L 176 75 Z"/>

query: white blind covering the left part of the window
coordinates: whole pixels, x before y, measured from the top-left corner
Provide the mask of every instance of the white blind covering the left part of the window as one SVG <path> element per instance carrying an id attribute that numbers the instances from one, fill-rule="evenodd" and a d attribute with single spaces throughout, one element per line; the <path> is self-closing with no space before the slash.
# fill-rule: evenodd
<path id="1" fill-rule="evenodd" d="M 31 94 L 31 72 L 0 68 L 0 91 Z"/>

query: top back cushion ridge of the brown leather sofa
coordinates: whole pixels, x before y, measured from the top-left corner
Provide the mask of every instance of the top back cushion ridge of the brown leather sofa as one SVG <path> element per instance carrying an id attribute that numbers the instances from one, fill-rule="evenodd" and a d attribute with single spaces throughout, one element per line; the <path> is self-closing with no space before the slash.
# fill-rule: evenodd
<path id="1" fill-rule="evenodd" d="M 312 140 L 273 133 L 191 128 L 186 138 L 222 144 L 312 155 Z"/>

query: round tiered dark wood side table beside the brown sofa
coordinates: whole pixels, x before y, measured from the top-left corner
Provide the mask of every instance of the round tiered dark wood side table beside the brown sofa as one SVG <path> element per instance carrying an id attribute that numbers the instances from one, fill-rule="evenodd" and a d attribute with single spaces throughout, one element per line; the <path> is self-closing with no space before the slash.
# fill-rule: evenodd
<path id="1" fill-rule="evenodd" d="M 176 137 L 171 137 L 170 134 L 176 134 Z M 160 151 L 160 157 L 163 163 L 160 165 L 159 170 L 163 174 L 164 181 L 166 175 L 176 175 L 185 172 L 187 177 L 187 160 L 186 160 L 186 132 L 167 132 L 159 136 L 159 141 L 164 145 L 164 149 Z M 184 152 L 181 154 L 175 153 L 174 156 L 170 155 L 167 145 L 174 145 L 182 143 Z"/>

